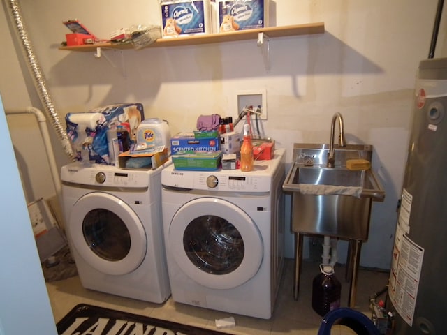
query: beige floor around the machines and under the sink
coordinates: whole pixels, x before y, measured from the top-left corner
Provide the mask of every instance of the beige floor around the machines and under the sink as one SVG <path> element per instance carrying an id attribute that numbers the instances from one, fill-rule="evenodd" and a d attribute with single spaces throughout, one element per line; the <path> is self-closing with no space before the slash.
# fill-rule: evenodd
<path id="1" fill-rule="evenodd" d="M 102 292 L 82 288 L 78 276 L 62 281 L 47 283 L 55 321 L 59 321 L 68 311 L 81 303 L 146 315 L 151 318 L 172 320 L 207 329 L 216 329 L 215 320 L 235 318 L 235 327 L 222 329 L 228 334 L 257 335 L 316 335 L 321 317 L 312 309 L 312 279 L 318 274 L 316 262 L 304 262 L 302 267 L 300 298 L 293 300 L 293 260 L 286 260 L 284 276 L 281 282 L 276 307 L 270 320 L 250 318 L 242 315 L 212 311 L 205 308 L 175 303 L 168 299 L 165 304 L 151 304 L 145 301 L 127 299 Z M 342 283 L 342 306 L 347 306 L 349 283 L 344 281 L 344 266 L 336 265 L 335 274 Z M 369 296 L 379 292 L 388 283 L 388 274 L 384 271 L 361 269 L 358 274 L 358 292 L 356 310 L 369 318 Z M 355 334 L 351 329 L 338 325 L 332 327 L 333 335 Z"/>

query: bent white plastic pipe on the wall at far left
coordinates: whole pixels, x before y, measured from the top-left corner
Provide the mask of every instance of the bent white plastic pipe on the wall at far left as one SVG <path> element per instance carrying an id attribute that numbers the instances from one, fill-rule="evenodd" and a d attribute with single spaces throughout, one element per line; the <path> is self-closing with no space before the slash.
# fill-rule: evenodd
<path id="1" fill-rule="evenodd" d="M 54 159 L 54 153 L 51 146 L 50 134 L 48 133 L 47 119 L 45 119 L 45 115 L 43 114 L 43 112 L 41 112 L 41 110 L 38 110 L 35 107 L 27 107 L 25 108 L 25 110 L 5 110 L 5 114 L 34 114 L 34 116 L 36 117 L 39 129 L 41 131 L 43 145 L 45 146 L 45 150 L 47 151 L 47 159 L 48 164 L 50 165 L 54 189 L 56 190 L 57 199 L 60 201 L 62 195 L 61 180 L 59 179 L 59 170 L 57 169 L 57 164 Z"/>

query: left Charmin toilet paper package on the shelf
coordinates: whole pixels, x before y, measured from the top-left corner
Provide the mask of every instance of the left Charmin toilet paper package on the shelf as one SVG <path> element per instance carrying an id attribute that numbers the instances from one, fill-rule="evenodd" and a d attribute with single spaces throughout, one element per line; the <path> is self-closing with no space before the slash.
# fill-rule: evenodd
<path id="1" fill-rule="evenodd" d="M 163 38 L 212 32 L 210 0 L 161 1 Z"/>

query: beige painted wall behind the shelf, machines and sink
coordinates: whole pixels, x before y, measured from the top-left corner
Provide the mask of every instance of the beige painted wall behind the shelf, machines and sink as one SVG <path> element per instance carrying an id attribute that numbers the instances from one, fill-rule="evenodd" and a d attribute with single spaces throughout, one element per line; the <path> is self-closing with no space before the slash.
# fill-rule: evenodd
<path id="1" fill-rule="evenodd" d="M 140 102 L 146 117 L 167 119 L 174 134 L 191 131 L 200 114 L 235 117 L 238 91 L 265 89 L 265 133 L 287 149 L 290 163 L 293 143 L 328 142 L 332 114 L 341 112 L 348 142 L 374 146 L 374 170 L 386 188 L 385 202 L 373 205 L 361 264 L 390 267 L 416 70 L 419 61 L 428 57 L 437 1 L 271 1 L 270 21 L 277 26 L 325 22 L 326 31 L 271 39 L 270 73 L 256 40 L 103 51 L 116 67 L 90 52 L 58 50 L 68 33 L 63 20 L 78 18 L 96 36 L 107 38 L 120 27 L 158 24 L 158 2 L 20 1 L 61 121 L 67 112 Z M 10 22 L 8 1 L 2 5 L 0 92 L 4 104 L 7 109 L 41 107 Z M 445 12 L 446 8 L 435 57 L 447 56 Z M 28 201 L 54 193 L 32 121 L 8 117 Z M 64 165 L 68 158 L 57 136 L 52 136 L 57 161 Z M 42 176 L 48 176 L 46 183 Z M 288 236 L 290 257 L 292 241 Z M 340 243 L 340 253 L 344 262 L 345 242 Z"/>

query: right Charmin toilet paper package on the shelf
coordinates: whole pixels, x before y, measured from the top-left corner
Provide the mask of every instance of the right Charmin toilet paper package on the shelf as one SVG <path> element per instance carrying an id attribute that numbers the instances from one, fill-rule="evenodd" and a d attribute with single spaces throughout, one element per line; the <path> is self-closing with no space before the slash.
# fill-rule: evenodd
<path id="1" fill-rule="evenodd" d="M 268 27 L 268 0 L 212 1 L 212 29 L 228 33 Z"/>

